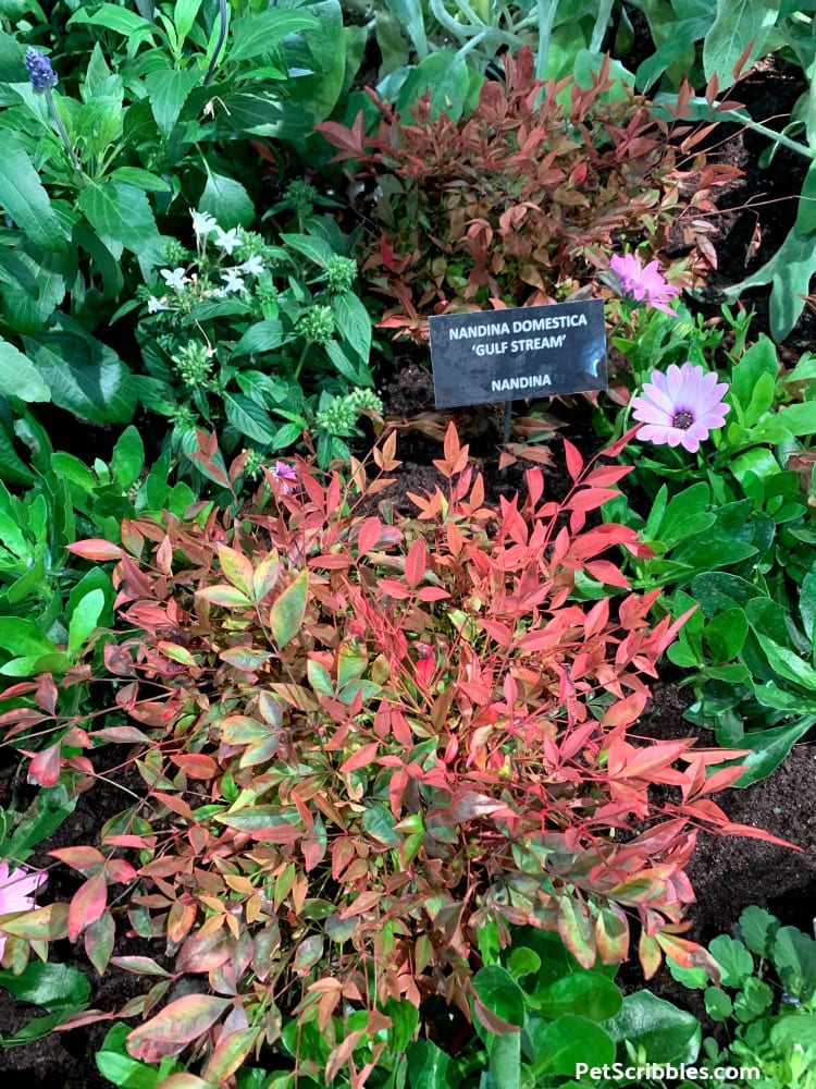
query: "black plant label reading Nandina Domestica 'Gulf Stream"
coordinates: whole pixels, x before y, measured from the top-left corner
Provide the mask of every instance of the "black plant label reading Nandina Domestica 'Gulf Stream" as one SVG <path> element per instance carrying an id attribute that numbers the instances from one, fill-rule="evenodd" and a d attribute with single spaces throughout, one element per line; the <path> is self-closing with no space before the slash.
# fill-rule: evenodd
<path id="1" fill-rule="evenodd" d="M 429 320 L 437 408 L 606 389 L 599 298 Z"/>

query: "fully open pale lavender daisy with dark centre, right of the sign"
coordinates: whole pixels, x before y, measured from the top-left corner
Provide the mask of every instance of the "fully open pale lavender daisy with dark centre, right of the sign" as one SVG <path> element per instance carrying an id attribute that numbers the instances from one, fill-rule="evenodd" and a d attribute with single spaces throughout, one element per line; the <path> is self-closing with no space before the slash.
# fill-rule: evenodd
<path id="1" fill-rule="evenodd" d="M 726 421 L 727 390 L 728 382 L 717 382 L 713 371 L 692 363 L 682 367 L 672 363 L 665 375 L 653 370 L 652 381 L 643 383 L 643 395 L 632 397 L 632 415 L 645 424 L 638 438 L 696 453 L 708 432 Z"/>

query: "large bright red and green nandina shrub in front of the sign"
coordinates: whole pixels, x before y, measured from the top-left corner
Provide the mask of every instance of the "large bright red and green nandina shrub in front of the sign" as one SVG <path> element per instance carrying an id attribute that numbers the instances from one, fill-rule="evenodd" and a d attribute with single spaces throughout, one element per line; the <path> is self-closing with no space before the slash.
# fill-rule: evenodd
<path id="1" fill-rule="evenodd" d="M 392 1000 L 441 995 L 500 1028 L 471 986 L 489 920 L 505 938 L 557 931 L 591 966 L 627 957 L 633 917 L 646 975 L 662 951 L 705 964 L 681 937 L 697 830 L 769 837 L 706 797 L 741 771 L 707 764 L 735 754 L 633 734 L 682 621 L 651 626 L 652 594 L 573 600 L 579 573 L 626 590 L 615 550 L 644 550 L 622 526 L 585 525 L 629 468 L 565 450 L 560 503 L 532 469 L 523 502 L 486 505 L 452 425 L 446 489 L 411 497 L 412 518 L 355 513 L 398 464 L 392 435 L 372 479 L 364 463 L 344 486 L 301 462 L 296 485 L 268 473 L 267 500 L 234 524 L 194 510 L 123 523 L 122 548 L 73 546 L 118 559 L 124 628 L 96 648 L 114 705 L 60 718 L 82 666 L 7 690 L 32 706 L 3 722 L 17 737 L 69 727 L 38 773 L 84 771 L 85 788 L 94 748 L 123 746 L 144 796 L 98 843 L 52 852 L 83 883 L 5 919 L 7 963 L 82 938 L 99 971 L 160 977 L 120 1012 L 150 1015 L 129 1051 L 194 1045 L 219 1086 L 284 1015 L 329 1039 L 327 1079 L 387 1027 Z M 171 967 L 111 960 L 116 932 Z M 186 975 L 207 984 L 159 1008 Z M 349 1031 L 353 1008 L 367 1019 Z"/>

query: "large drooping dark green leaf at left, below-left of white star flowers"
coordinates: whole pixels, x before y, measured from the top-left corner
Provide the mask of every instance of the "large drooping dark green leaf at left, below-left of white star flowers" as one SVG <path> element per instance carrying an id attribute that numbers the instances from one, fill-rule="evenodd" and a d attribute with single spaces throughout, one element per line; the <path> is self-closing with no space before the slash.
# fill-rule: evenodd
<path id="1" fill-rule="evenodd" d="M 55 405 L 95 424 L 129 423 L 136 392 L 127 368 L 111 347 L 67 315 L 59 315 L 48 332 L 24 341 Z"/>

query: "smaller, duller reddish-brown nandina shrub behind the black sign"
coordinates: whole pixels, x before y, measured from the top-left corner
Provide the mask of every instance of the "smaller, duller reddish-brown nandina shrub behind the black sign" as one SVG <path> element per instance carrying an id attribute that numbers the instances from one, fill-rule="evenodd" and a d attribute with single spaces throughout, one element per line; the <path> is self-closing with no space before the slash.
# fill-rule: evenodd
<path id="1" fill-rule="evenodd" d="M 613 244 L 657 253 L 672 228 L 692 265 L 716 265 L 702 217 L 712 187 L 739 171 L 692 154 L 708 129 L 660 120 L 608 77 L 608 61 L 586 89 L 534 79 L 529 49 L 505 68 L 506 83 L 486 82 L 460 121 L 434 117 L 430 95 L 407 119 L 369 90 L 374 136 L 362 113 L 350 129 L 318 125 L 336 160 L 375 179 L 363 269 L 396 303 L 386 327 L 421 339 L 428 315 L 448 307 L 562 299 L 595 284 Z"/>

